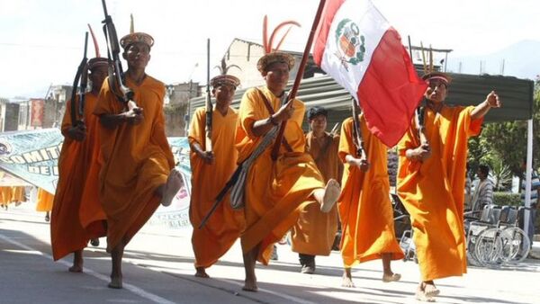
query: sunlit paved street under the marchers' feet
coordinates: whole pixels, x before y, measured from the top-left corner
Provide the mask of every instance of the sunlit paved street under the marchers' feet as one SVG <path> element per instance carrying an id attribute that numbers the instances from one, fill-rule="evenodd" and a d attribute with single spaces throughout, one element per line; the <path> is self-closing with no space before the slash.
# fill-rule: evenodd
<path id="1" fill-rule="evenodd" d="M 124 289 L 106 287 L 110 257 L 101 245 L 85 251 L 85 273 L 68 273 L 71 256 L 52 262 L 49 223 L 34 205 L 0 210 L 0 303 L 416 303 L 419 279 L 412 262 L 395 262 L 401 282 L 383 283 L 382 264 L 354 269 L 356 288 L 340 287 L 338 252 L 317 258 L 317 273 L 299 273 L 297 255 L 278 246 L 279 261 L 257 265 L 260 291 L 241 291 L 238 243 L 208 273 L 193 276 L 189 229 L 145 227 L 126 248 Z M 211 250 L 211 248 L 208 248 Z M 540 260 L 499 270 L 470 268 L 464 277 L 437 281 L 438 303 L 540 303 Z"/>

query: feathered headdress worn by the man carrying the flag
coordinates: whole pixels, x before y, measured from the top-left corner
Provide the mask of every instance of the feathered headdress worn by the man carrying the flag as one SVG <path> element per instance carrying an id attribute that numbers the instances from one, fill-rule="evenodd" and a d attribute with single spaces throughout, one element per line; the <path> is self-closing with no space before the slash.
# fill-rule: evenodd
<path id="1" fill-rule="evenodd" d="M 281 40 L 279 40 L 274 48 L 274 40 L 276 39 L 277 32 L 282 30 L 287 25 L 289 25 L 289 28 L 287 31 L 285 31 L 284 36 Z M 268 39 L 268 16 L 265 15 L 265 18 L 263 19 L 263 49 L 265 49 L 265 56 L 259 58 L 257 61 L 257 69 L 259 72 L 262 73 L 266 71 L 266 68 L 275 62 L 284 62 L 289 66 L 289 69 L 294 67 L 294 57 L 290 54 L 278 51 L 283 44 L 285 37 L 287 37 L 289 31 L 291 31 L 293 28 L 293 25 L 298 27 L 301 26 L 299 22 L 292 20 L 281 22 L 275 27 L 274 31 L 272 31 L 272 34 L 270 35 L 270 39 Z"/>

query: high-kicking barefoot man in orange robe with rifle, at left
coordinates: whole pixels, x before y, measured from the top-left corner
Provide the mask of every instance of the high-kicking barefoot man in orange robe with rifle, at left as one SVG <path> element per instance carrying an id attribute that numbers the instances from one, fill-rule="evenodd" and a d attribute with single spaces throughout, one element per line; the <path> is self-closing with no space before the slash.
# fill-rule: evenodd
<path id="1" fill-rule="evenodd" d="M 121 39 L 122 57 L 128 62 L 125 85 L 133 91 L 136 105 L 121 102 L 115 94 L 118 88 L 107 78 L 94 108 L 103 156 L 99 200 L 107 216 L 107 252 L 112 255 L 108 286 L 115 289 L 122 288 L 124 247 L 159 203 L 170 205 L 182 186 L 165 135 L 165 85 L 145 72 L 153 43 L 143 32 Z"/>

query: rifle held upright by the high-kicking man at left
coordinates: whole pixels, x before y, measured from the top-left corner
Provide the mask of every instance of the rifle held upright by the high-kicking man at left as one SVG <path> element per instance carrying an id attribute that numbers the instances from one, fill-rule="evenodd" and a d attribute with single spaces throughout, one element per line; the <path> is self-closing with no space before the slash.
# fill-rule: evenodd
<path id="1" fill-rule="evenodd" d="M 109 58 L 109 85 L 112 93 L 116 96 L 119 102 L 124 103 L 124 107 L 127 111 L 137 111 L 137 103 L 133 101 L 133 91 L 124 84 L 124 73 L 121 67 L 120 60 L 120 44 L 118 42 L 118 36 L 116 35 L 116 27 L 112 23 L 112 17 L 107 13 L 107 4 L 105 0 L 102 0 L 103 13 L 105 19 L 103 20 L 103 32 L 105 34 L 105 40 L 107 41 L 107 57 Z M 111 67 L 112 66 L 112 67 Z"/>

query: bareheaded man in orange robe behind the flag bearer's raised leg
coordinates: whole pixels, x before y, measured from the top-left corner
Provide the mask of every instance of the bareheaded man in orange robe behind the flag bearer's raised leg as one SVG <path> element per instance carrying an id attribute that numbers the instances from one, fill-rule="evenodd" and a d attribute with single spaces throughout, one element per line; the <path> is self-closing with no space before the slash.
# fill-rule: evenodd
<path id="1" fill-rule="evenodd" d="M 306 134 L 306 152 L 315 160 L 325 182 L 340 181 L 343 165 L 338 157 L 339 136 L 326 131 L 327 117 L 327 110 L 319 106 L 308 111 L 311 132 Z M 315 255 L 330 255 L 337 231 L 338 207 L 323 213 L 317 204 L 303 205 L 291 229 L 291 249 L 298 253 L 301 273 L 315 272 Z"/>

